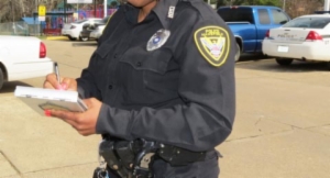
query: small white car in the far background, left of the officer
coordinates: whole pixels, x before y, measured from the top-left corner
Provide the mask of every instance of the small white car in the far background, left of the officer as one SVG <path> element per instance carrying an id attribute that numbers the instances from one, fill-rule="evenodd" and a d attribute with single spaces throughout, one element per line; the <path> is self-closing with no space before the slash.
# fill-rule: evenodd
<path id="1" fill-rule="evenodd" d="M 97 24 L 97 23 L 101 23 L 102 19 L 100 18 L 89 18 L 89 19 L 84 19 L 84 20 L 79 20 L 73 23 L 66 23 L 64 24 L 61 34 L 63 36 L 68 36 L 68 38 L 70 41 L 75 41 L 77 38 L 79 38 L 80 41 L 88 41 L 88 37 L 81 37 L 80 36 L 80 32 L 82 31 L 82 26 L 85 24 Z"/>

